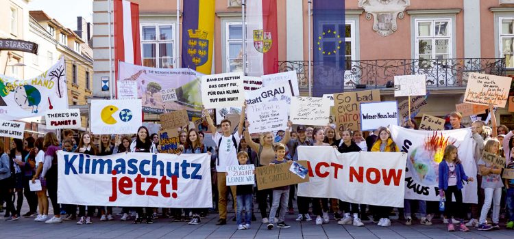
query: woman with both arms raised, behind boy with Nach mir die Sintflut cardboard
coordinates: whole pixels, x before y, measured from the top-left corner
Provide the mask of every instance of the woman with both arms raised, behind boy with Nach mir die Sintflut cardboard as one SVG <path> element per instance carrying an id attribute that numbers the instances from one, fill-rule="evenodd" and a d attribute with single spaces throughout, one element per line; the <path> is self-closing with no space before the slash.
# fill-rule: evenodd
<path id="1" fill-rule="evenodd" d="M 286 144 L 289 142 L 289 139 L 291 139 L 291 134 L 289 128 L 291 128 L 291 122 L 287 122 L 287 129 L 286 133 L 284 135 L 284 138 L 278 142 L 274 143 L 273 140 L 273 132 L 264 132 L 260 135 L 260 143 L 255 143 L 252 140 L 252 137 L 250 137 L 250 133 L 248 130 L 245 130 L 245 139 L 247 139 L 248 145 L 257 152 L 257 160 L 255 162 L 255 167 L 262 167 L 262 166 L 268 166 L 269 163 L 271 163 L 276 158 L 276 149 L 275 146 L 279 143 Z M 246 128 L 249 127 L 249 123 L 246 122 Z M 269 195 L 269 200 L 273 197 L 273 190 L 272 189 L 265 189 L 265 190 L 259 190 L 257 191 L 257 202 L 259 204 L 259 211 L 260 216 L 262 216 L 262 223 L 269 223 L 270 219 L 267 218 L 267 198 Z M 275 216 L 275 215 L 270 215 Z"/>

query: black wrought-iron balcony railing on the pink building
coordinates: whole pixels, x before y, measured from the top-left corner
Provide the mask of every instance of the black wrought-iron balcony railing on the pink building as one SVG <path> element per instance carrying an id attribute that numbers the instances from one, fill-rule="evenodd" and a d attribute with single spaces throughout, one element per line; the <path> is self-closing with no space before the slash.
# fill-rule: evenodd
<path id="1" fill-rule="evenodd" d="M 296 70 L 300 91 L 308 91 L 308 61 L 279 61 L 280 72 Z M 315 63 L 311 63 L 315 66 Z M 426 74 L 427 87 L 465 87 L 470 72 L 505 75 L 504 58 L 457 58 L 457 59 L 378 59 L 352 61 L 352 68 L 346 70 L 341 81 L 345 89 L 356 85 L 367 88 L 386 87 L 394 76 Z M 323 68 L 317 68 L 324 71 Z M 316 81 L 317 75 L 313 75 Z"/>

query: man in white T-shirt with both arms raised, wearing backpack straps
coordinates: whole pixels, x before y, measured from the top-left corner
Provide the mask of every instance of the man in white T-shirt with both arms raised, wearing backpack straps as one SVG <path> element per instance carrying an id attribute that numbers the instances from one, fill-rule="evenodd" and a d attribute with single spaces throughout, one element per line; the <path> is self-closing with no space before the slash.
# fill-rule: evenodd
<path id="1" fill-rule="evenodd" d="M 243 109 L 241 110 L 241 117 L 239 118 L 239 124 L 237 128 L 237 132 L 230 132 L 230 120 L 223 119 L 221 120 L 221 134 L 217 131 L 217 128 L 212 122 L 212 118 L 209 115 L 207 109 L 204 109 L 204 114 L 206 117 L 206 121 L 209 124 L 209 130 L 212 132 L 212 140 L 215 141 L 218 145 L 217 152 L 217 160 L 216 160 L 216 171 L 217 171 L 217 181 L 218 181 L 218 210 L 219 210 L 219 220 L 216 225 L 225 225 L 227 224 L 227 191 L 228 186 L 226 182 L 225 172 L 227 171 L 227 166 L 239 165 L 237 160 L 237 145 L 241 140 L 241 134 L 243 133 L 243 124 L 245 123 L 245 109 L 246 104 L 243 105 Z M 232 198 L 236 199 L 236 186 L 230 186 L 230 191 L 232 191 Z M 234 211 L 237 208 L 237 203 L 234 203 Z"/>

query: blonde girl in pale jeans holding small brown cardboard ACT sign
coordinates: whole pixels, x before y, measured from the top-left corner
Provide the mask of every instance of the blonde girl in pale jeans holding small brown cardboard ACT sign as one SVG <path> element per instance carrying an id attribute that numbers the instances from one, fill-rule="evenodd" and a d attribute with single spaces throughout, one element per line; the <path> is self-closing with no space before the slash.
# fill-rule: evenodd
<path id="1" fill-rule="evenodd" d="M 490 154 L 498 155 L 500 152 L 500 141 L 498 139 L 489 139 L 485 143 L 485 152 Z M 484 188 L 485 200 L 484 206 L 482 206 L 482 212 L 480 212 L 480 221 L 478 225 L 479 231 L 489 231 L 490 229 L 500 229 L 498 225 L 500 219 L 500 200 L 502 199 L 502 168 L 498 165 L 493 165 L 486 162 L 483 158 L 478 161 L 478 169 L 482 174 L 482 188 Z M 487 213 L 491 209 L 491 201 L 493 203 L 493 225 L 487 225 Z"/>

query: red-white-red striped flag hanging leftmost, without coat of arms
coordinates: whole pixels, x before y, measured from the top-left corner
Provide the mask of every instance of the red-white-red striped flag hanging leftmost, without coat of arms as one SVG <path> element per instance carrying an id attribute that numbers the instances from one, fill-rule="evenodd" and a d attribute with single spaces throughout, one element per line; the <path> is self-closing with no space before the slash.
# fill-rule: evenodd
<path id="1" fill-rule="evenodd" d="M 114 0 L 114 75 L 118 61 L 141 65 L 139 5 L 127 0 Z"/>

